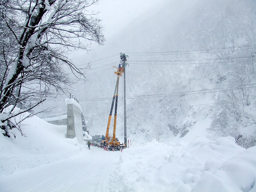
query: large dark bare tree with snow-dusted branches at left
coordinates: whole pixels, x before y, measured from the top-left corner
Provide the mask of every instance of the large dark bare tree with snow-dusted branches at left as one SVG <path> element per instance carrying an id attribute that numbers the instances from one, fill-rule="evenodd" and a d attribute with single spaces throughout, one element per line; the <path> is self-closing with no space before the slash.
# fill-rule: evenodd
<path id="1" fill-rule="evenodd" d="M 5 136 L 17 128 L 13 117 L 65 91 L 71 82 L 65 66 L 84 77 L 66 55 L 103 43 L 100 20 L 87 11 L 97 1 L 0 0 L 0 126 Z"/>

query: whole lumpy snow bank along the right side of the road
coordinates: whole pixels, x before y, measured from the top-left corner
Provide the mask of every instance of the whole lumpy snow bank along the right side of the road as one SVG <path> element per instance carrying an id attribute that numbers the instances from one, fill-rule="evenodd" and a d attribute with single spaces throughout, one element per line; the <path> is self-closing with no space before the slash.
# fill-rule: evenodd
<path id="1" fill-rule="evenodd" d="M 152 141 L 123 151 L 112 191 L 254 191 L 255 154 L 256 147 L 245 150 L 232 137 L 196 137 L 178 145 Z"/>

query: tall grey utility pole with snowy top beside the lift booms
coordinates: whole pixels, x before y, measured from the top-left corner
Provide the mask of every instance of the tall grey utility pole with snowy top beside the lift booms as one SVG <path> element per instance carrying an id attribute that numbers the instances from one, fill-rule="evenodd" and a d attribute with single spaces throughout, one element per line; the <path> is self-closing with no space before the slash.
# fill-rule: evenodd
<path id="1" fill-rule="evenodd" d="M 124 68 L 124 146 L 127 147 L 127 129 L 126 129 L 126 85 L 125 85 L 125 67 L 127 65 L 128 55 L 124 52 L 120 53 L 122 67 Z"/>

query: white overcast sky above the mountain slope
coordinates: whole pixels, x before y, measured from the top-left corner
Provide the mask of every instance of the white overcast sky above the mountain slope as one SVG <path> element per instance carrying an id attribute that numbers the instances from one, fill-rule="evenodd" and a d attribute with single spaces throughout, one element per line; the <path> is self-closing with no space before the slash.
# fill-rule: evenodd
<path id="1" fill-rule="evenodd" d="M 108 39 L 132 20 L 164 1 L 166 0 L 100 0 L 93 9 L 100 11 L 98 17 L 102 20 L 103 34 Z"/>

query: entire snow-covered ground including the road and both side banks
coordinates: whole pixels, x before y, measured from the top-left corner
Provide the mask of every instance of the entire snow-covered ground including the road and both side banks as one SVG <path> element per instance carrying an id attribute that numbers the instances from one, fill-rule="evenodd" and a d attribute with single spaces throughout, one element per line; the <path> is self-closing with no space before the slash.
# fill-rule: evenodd
<path id="1" fill-rule="evenodd" d="M 232 137 L 189 132 L 183 141 L 132 142 L 113 152 L 88 150 L 65 138 L 65 126 L 37 117 L 24 124 L 27 137 L 0 134 L 1 192 L 256 191 L 256 147 L 241 148 Z"/>

